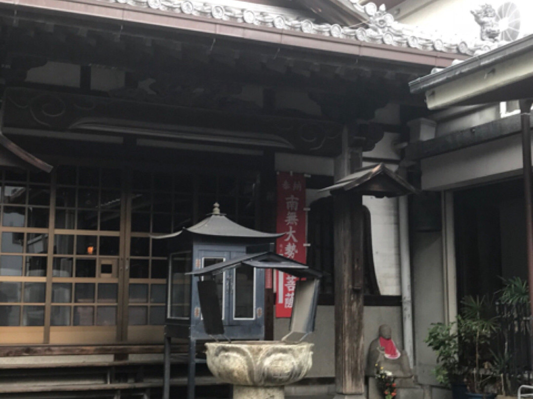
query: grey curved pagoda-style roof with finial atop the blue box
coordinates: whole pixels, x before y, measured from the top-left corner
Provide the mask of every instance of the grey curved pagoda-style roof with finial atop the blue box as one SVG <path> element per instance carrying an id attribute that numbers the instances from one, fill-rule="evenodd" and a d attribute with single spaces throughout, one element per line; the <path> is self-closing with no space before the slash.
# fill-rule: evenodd
<path id="1" fill-rule="evenodd" d="M 281 237 L 285 233 L 263 233 L 257 230 L 249 229 L 231 221 L 223 213 L 220 213 L 219 204 L 215 204 L 213 213 L 196 225 L 184 228 L 183 230 L 163 236 L 154 236 L 152 238 L 173 238 L 182 233 L 207 237 L 228 237 L 228 238 L 263 238 L 274 239 Z"/>

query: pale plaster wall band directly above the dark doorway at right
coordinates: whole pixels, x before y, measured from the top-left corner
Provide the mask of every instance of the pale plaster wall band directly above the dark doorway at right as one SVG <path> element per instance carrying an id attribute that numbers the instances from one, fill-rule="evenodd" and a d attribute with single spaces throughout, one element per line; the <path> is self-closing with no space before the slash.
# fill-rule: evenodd
<path id="1" fill-rule="evenodd" d="M 520 134 L 423 159 L 422 189 L 444 190 L 519 175 Z"/>

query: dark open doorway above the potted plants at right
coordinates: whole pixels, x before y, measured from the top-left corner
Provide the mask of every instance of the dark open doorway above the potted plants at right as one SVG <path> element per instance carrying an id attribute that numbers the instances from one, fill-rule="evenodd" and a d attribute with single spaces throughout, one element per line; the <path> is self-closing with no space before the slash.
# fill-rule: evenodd
<path id="1" fill-rule="evenodd" d="M 522 179 L 456 191 L 457 296 L 492 294 L 527 279 Z"/>

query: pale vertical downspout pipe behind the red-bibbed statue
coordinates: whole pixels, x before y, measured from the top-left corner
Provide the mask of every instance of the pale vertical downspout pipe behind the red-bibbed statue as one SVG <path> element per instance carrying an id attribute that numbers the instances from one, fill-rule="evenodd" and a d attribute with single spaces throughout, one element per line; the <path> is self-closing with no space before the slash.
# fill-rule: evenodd
<path id="1" fill-rule="evenodd" d="M 405 173 L 400 172 L 400 174 L 404 174 L 403 177 L 405 177 Z M 412 363 L 411 366 L 413 366 L 415 363 L 413 343 L 413 300 L 411 297 L 411 256 L 409 252 L 409 206 L 408 197 L 406 195 L 398 198 L 398 235 L 400 246 L 403 349 L 406 351 L 407 356 Z"/>

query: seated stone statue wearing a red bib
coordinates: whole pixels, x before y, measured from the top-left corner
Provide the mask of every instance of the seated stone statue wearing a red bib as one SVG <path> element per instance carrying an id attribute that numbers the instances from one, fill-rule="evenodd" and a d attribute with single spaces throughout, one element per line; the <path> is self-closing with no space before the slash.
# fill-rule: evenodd
<path id="1" fill-rule="evenodd" d="M 394 344 L 392 329 L 387 324 L 379 326 L 379 337 L 370 342 L 366 366 L 367 376 L 375 376 L 376 364 L 378 367 L 383 367 L 383 370 L 391 372 L 395 378 L 413 377 L 409 357 L 405 350 L 398 349 Z"/>

